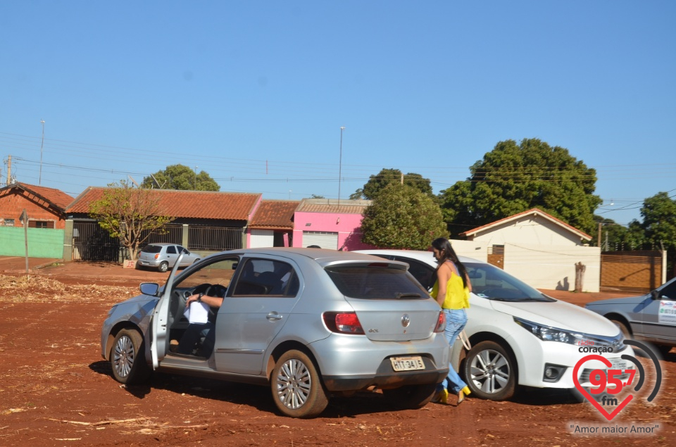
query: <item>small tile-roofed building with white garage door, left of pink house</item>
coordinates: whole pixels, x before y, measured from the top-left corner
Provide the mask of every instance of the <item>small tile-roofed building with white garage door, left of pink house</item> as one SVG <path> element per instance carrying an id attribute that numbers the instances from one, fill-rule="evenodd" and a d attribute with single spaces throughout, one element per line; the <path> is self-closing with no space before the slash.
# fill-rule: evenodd
<path id="1" fill-rule="evenodd" d="M 292 244 L 294 213 L 299 201 L 263 200 L 251 218 L 246 246 L 288 247 Z"/>

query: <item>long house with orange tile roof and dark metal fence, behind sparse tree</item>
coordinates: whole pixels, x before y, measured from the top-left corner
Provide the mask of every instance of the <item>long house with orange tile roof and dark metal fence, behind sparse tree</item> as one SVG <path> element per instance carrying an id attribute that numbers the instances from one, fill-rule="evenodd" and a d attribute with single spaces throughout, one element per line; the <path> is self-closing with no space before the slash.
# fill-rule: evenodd
<path id="1" fill-rule="evenodd" d="M 104 196 L 106 188 L 89 187 L 68 206 L 73 231 L 73 260 L 118 260 L 119 242 L 89 217 L 89 204 Z M 153 232 L 148 243 L 180 244 L 206 256 L 246 246 L 246 228 L 261 205 L 262 194 L 220 191 L 153 189 L 159 213 L 174 220 Z"/>

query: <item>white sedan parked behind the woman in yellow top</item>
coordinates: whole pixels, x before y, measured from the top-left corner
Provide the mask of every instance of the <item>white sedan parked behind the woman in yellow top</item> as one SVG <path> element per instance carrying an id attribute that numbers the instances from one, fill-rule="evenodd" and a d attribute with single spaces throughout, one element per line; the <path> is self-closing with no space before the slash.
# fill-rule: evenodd
<path id="1" fill-rule="evenodd" d="M 360 250 L 389 260 L 401 260 L 428 290 L 434 284 L 437 261 L 430 251 Z M 575 390 L 572 374 L 578 361 L 598 354 L 611 369 L 634 369 L 621 355 L 633 355 L 620 329 L 601 315 L 542 294 L 504 270 L 479 260 L 461 257 L 472 283 L 465 332 L 471 348 L 456 341 L 451 363 L 474 396 L 501 401 L 517 386 Z M 584 363 L 578 372 L 581 386 L 589 389 L 589 374 L 606 371 L 599 360 Z M 579 394 L 575 393 L 577 396 Z"/>

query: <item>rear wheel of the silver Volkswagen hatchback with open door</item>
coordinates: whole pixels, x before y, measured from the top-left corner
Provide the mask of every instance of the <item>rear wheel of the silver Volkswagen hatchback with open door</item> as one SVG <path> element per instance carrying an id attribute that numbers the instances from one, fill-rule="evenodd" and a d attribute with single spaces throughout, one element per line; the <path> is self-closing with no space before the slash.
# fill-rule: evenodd
<path id="1" fill-rule="evenodd" d="M 314 363 L 301 351 L 284 353 L 270 382 L 275 405 L 285 416 L 315 417 L 329 403 Z"/>

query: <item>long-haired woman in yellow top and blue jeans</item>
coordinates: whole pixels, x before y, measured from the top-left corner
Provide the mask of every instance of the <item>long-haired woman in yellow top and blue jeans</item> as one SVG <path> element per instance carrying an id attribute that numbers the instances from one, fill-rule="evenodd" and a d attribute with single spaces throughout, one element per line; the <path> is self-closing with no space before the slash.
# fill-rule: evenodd
<path id="1" fill-rule="evenodd" d="M 465 325 L 467 324 L 467 313 L 465 308 L 470 307 L 470 283 L 467 270 L 463 263 L 458 260 L 456 251 L 453 250 L 448 239 L 440 237 L 432 241 L 432 251 L 434 258 L 437 259 L 437 282 L 432 287 L 432 297 L 437 300 L 439 306 L 444 309 L 446 314 L 446 340 L 449 346 L 453 346 Z M 449 375 L 444 382 L 437 385 L 437 394 L 433 401 L 446 403 L 449 390 L 458 395 L 458 405 L 465 399 L 465 394 L 470 394 L 470 389 L 463 382 L 453 365 L 449 365 Z"/>

